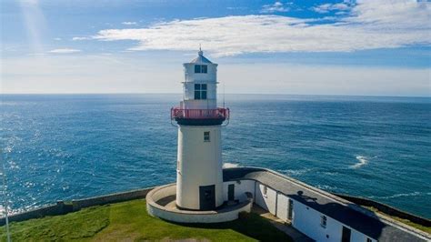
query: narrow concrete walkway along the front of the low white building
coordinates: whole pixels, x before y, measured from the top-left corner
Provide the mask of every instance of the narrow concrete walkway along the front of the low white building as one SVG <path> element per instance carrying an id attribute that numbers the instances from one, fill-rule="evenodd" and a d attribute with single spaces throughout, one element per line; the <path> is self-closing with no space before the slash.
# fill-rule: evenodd
<path id="1" fill-rule="evenodd" d="M 287 225 L 285 221 L 281 220 L 278 217 L 275 217 L 262 207 L 257 206 L 256 204 L 252 207 L 252 212 L 260 215 L 261 217 L 265 217 L 269 219 L 269 222 L 274 225 L 274 227 L 278 228 L 279 230 L 283 231 L 288 235 L 289 237 L 292 237 L 292 239 L 295 242 L 312 242 L 315 241 L 309 237 L 306 237 L 303 233 L 296 230 L 295 227 L 292 227 L 290 225 Z"/>

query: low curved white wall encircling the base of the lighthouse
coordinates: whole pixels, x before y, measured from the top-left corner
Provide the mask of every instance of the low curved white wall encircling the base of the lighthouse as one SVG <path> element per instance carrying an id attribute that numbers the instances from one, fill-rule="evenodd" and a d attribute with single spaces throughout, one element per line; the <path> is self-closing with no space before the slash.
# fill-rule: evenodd
<path id="1" fill-rule="evenodd" d="M 158 203 L 165 197 L 174 196 L 175 184 L 169 184 L 153 189 L 146 196 L 146 210 L 148 214 L 178 223 L 222 223 L 236 220 L 240 212 L 249 213 L 253 205 L 253 198 L 251 196 L 247 200 L 242 201 L 235 206 L 214 211 L 179 210 L 177 208 L 166 207 Z"/>

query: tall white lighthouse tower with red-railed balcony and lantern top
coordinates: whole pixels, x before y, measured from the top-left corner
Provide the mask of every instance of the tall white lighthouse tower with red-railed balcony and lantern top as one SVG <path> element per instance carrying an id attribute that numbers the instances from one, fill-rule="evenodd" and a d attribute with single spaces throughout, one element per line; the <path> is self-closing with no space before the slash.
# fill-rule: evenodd
<path id="1" fill-rule="evenodd" d="M 224 203 L 221 127 L 229 109 L 217 106 L 217 64 L 200 48 L 183 66 L 183 98 L 171 109 L 178 126 L 176 207 L 213 210 Z"/>

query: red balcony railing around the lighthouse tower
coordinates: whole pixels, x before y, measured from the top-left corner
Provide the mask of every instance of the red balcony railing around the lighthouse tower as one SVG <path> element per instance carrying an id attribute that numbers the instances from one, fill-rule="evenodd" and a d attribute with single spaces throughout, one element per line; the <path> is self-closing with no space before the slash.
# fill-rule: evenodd
<path id="1" fill-rule="evenodd" d="M 171 108 L 171 119 L 229 119 L 229 108 L 216 109 L 181 109 Z"/>

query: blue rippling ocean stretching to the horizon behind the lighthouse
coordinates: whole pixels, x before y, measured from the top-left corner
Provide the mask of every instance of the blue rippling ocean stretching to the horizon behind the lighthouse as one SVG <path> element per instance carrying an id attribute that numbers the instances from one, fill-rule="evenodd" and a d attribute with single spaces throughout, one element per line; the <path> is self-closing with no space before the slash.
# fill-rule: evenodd
<path id="1" fill-rule="evenodd" d="M 2 95 L 9 207 L 175 182 L 181 95 Z M 431 218 L 431 98 L 226 95 L 224 166 Z"/>

